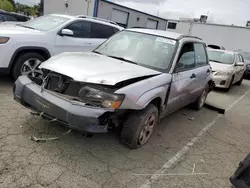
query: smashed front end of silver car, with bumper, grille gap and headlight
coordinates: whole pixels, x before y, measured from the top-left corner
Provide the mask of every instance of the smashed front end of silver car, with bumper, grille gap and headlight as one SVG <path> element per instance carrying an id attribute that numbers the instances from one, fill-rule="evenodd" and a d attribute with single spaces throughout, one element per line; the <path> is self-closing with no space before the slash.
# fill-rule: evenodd
<path id="1" fill-rule="evenodd" d="M 82 132 L 105 133 L 118 127 L 127 110 L 118 109 L 125 95 L 115 91 L 147 77 L 114 86 L 92 84 L 45 72 L 43 80 L 21 76 L 13 87 L 14 99 L 23 106 Z"/>

